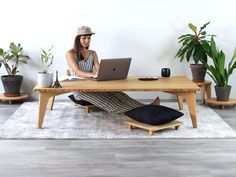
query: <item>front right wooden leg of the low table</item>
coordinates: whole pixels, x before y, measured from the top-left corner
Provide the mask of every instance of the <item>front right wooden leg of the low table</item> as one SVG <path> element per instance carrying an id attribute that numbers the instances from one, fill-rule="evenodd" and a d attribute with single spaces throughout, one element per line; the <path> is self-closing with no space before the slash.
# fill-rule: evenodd
<path id="1" fill-rule="evenodd" d="M 197 128 L 196 93 L 186 93 L 186 102 L 188 105 L 190 117 L 192 119 L 193 128 Z"/>

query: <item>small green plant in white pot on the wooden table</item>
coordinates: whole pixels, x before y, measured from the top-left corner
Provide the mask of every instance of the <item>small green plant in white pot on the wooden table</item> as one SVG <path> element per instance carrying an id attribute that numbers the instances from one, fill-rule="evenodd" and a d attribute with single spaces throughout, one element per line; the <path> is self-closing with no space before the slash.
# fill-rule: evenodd
<path id="1" fill-rule="evenodd" d="M 50 66 L 53 63 L 53 53 L 52 53 L 53 46 L 48 49 L 44 50 L 41 49 L 41 63 L 42 63 L 42 71 L 38 72 L 38 86 L 39 87 L 51 87 L 53 83 L 53 73 L 48 72 Z"/>

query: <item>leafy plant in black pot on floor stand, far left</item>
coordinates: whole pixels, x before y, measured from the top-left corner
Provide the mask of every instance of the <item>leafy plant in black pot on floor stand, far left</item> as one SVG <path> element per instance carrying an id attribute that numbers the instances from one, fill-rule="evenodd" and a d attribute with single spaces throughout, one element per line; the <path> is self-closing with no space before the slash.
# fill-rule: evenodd
<path id="1" fill-rule="evenodd" d="M 23 55 L 21 44 L 10 43 L 9 50 L 0 48 L 0 67 L 3 65 L 8 75 L 1 76 L 5 96 L 19 96 L 23 80 L 22 75 L 16 75 L 20 64 L 27 64 L 27 55 Z"/>

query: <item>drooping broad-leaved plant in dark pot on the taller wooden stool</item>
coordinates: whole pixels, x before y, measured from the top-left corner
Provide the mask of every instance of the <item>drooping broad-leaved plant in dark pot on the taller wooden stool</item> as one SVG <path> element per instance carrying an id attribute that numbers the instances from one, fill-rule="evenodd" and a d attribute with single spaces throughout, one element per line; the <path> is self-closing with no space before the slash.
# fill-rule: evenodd
<path id="1" fill-rule="evenodd" d="M 182 46 L 175 57 L 178 57 L 180 62 L 184 59 L 189 62 L 190 59 L 193 58 L 194 64 L 190 64 L 190 68 L 194 82 L 203 82 L 205 80 L 206 68 L 202 63 L 200 63 L 200 61 L 207 62 L 207 55 L 202 47 L 202 43 L 209 42 L 206 39 L 208 36 L 214 36 L 207 35 L 204 30 L 209 23 L 210 22 L 200 27 L 199 31 L 195 25 L 189 23 L 188 27 L 192 30 L 193 34 L 184 34 L 178 38 L 178 43 L 181 43 Z"/>

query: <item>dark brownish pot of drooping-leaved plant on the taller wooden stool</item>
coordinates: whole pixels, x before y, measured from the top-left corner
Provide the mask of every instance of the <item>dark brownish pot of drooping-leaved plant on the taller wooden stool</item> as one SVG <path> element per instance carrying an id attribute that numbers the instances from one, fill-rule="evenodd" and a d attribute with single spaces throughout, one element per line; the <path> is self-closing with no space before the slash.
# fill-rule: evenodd
<path id="1" fill-rule="evenodd" d="M 206 76 L 206 68 L 203 64 L 190 64 L 193 82 L 204 82 Z"/>

